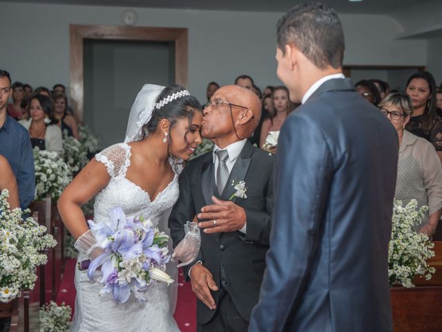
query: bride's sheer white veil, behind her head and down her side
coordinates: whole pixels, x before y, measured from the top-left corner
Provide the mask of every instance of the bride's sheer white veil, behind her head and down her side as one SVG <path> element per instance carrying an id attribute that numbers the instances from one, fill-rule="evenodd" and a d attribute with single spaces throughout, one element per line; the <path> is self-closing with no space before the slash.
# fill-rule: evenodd
<path id="1" fill-rule="evenodd" d="M 152 113 L 155 109 L 155 102 L 158 95 L 163 91 L 164 86 L 155 84 L 144 84 L 140 92 L 135 98 L 135 102 L 131 107 L 129 113 L 129 120 L 127 122 L 126 136 L 124 142 L 137 142 L 142 140 L 147 133 L 143 133 L 143 126 L 152 118 Z M 160 221 L 158 222 L 158 229 L 160 232 L 165 232 L 171 236 L 168 226 L 169 214 L 172 209 L 162 212 Z M 169 253 L 173 252 L 172 241 L 169 241 Z M 166 273 L 168 273 L 175 282 L 168 287 L 169 299 L 171 303 L 171 313 L 175 311 L 178 293 L 178 269 L 177 262 L 169 261 L 166 265 Z"/>

